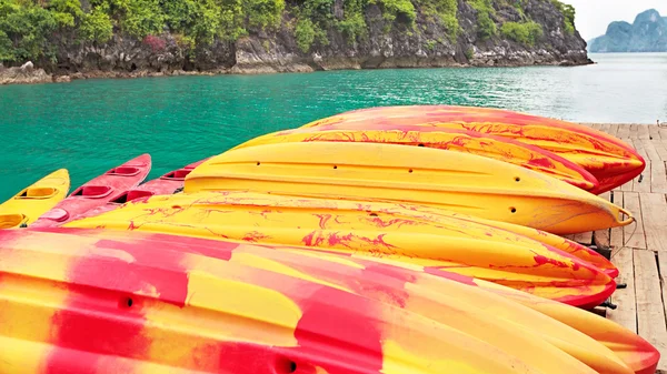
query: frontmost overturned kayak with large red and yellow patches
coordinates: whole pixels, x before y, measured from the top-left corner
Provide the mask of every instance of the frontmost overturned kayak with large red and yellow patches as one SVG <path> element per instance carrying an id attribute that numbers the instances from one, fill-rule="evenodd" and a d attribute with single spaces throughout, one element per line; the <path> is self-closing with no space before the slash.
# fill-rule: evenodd
<path id="1" fill-rule="evenodd" d="M 501 297 L 445 277 L 180 236 L 50 230 L 0 233 L 3 373 L 633 373 L 528 307 L 516 304 L 511 319 L 484 313 Z"/>

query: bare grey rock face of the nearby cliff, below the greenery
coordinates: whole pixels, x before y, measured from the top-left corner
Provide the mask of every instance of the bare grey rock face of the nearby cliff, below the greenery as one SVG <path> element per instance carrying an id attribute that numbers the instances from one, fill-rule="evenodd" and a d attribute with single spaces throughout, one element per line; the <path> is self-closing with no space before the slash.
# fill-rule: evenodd
<path id="1" fill-rule="evenodd" d="M 36 61 L 54 77 L 137 77 L 190 73 L 306 72 L 335 69 L 421 68 L 450 65 L 530 65 L 589 63 L 586 42 L 567 30 L 558 3 L 551 0 L 492 0 L 494 33 L 481 32 L 480 11 L 470 0 L 458 0 L 459 29 L 451 37 L 442 22 L 416 6 L 412 26 L 389 24 L 378 4 L 364 9 L 367 36 L 350 41 L 344 32 L 325 30 L 328 43 L 300 48 L 293 31 L 293 12 L 288 7 L 279 29 L 250 30 L 235 42 L 216 41 L 185 53 L 169 32 L 159 42 L 115 34 L 102 46 L 68 43 L 62 36 L 56 60 Z M 510 2 L 520 3 L 520 7 Z M 344 17 L 336 0 L 331 12 Z M 541 33 L 526 40 L 522 31 L 505 32 L 507 22 L 536 22 Z M 484 37 L 482 37 L 484 36 Z"/>

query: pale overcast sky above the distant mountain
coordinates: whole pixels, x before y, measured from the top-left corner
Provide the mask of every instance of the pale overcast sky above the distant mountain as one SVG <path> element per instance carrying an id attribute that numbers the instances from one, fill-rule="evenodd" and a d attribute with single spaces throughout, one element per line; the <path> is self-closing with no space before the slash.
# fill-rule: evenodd
<path id="1" fill-rule="evenodd" d="M 586 40 L 599 37 L 607 31 L 613 21 L 633 23 L 635 17 L 647 10 L 656 9 L 667 17 L 667 0 L 560 0 L 573 4 L 577 10 L 575 23 Z"/>

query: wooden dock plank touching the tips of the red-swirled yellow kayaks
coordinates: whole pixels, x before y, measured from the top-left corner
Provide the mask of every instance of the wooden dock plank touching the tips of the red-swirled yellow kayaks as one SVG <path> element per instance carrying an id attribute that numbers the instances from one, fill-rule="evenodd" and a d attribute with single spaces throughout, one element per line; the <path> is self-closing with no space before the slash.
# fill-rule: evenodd
<path id="1" fill-rule="evenodd" d="M 626 283 L 626 289 L 616 290 L 611 302 L 618 305 L 616 310 L 607 310 L 607 319 L 627 330 L 637 332 L 637 305 L 635 304 L 635 265 L 633 250 L 623 249 L 611 254 L 611 262 L 618 267 L 617 283 Z"/>

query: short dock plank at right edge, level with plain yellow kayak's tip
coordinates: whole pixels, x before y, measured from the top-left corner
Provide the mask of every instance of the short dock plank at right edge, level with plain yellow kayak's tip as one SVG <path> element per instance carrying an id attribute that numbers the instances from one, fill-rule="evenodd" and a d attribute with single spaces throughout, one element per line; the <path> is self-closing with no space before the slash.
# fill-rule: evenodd
<path id="1" fill-rule="evenodd" d="M 627 196 L 624 195 L 624 199 Z M 661 193 L 643 193 L 641 220 L 646 235 L 646 247 L 651 251 L 667 251 L 667 201 Z M 626 226 L 627 228 L 627 226 Z"/>

